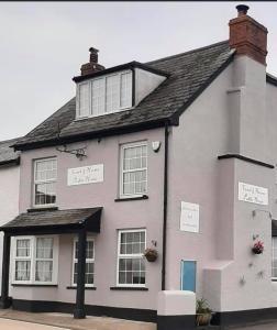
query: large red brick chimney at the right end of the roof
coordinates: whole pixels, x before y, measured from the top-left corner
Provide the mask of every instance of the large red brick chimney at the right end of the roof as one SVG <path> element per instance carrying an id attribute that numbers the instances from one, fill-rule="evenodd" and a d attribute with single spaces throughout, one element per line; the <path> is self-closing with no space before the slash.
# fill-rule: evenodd
<path id="1" fill-rule="evenodd" d="M 266 65 L 267 29 L 247 15 L 248 6 L 239 4 L 237 18 L 229 22 L 231 48 Z"/>

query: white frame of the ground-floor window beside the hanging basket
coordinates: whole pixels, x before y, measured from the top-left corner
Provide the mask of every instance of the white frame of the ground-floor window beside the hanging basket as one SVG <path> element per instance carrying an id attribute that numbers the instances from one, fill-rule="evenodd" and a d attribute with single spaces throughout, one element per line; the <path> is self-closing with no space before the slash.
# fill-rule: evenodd
<path id="1" fill-rule="evenodd" d="M 118 255 L 117 255 L 117 286 L 118 287 L 146 287 L 146 262 L 145 262 L 145 284 L 120 284 L 119 283 L 119 263 L 120 258 L 142 258 L 143 253 L 137 253 L 137 254 L 121 254 L 120 253 L 120 243 L 121 243 L 121 233 L 125 232 L 144 232 L 145 233 L 145 249 L 147 246 L 147 238 L 146 238 L 146 229 L 120 229 L 118 231 Z"/>

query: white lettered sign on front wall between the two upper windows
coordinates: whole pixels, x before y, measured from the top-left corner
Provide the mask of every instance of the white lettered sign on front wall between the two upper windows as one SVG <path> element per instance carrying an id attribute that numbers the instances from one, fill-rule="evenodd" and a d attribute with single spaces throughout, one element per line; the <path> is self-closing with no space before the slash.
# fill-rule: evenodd
<path id="1" fill-rule="evenodd" d="M 103 164 L 67 169 L 67 185 L 87 185 L 103 182 Z"/>

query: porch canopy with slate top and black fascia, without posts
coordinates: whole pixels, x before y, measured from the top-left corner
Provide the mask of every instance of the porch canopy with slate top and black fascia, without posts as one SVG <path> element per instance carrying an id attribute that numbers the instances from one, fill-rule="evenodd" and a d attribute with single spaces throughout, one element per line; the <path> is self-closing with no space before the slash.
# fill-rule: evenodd
<path id="1" fill-rule="evenodd" d="M 76 232 L 81 228 L 90 232 L 100 232 L 101 211 L 101 207 L 29 210 L 0 227 L 0 231 L 11 235 L 59 234 Z"/>

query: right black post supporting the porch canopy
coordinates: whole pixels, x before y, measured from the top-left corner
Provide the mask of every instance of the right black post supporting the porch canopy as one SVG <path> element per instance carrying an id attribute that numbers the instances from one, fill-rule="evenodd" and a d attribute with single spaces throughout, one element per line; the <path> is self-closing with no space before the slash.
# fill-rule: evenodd
<path id="1" fill-rule="evenodd" d="M 86 246 L 87 246 L 87 231 L 84 228 L 78 233 L 77 292 L 76 292 L 76 306 L 74 310 L 75 319 L 86 318 L 86 311 L 85 311 Z"/>

